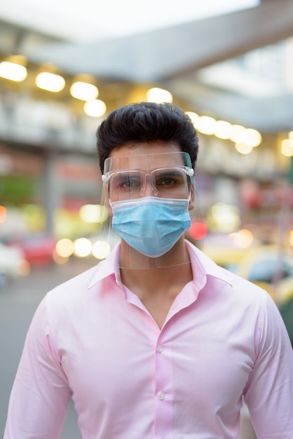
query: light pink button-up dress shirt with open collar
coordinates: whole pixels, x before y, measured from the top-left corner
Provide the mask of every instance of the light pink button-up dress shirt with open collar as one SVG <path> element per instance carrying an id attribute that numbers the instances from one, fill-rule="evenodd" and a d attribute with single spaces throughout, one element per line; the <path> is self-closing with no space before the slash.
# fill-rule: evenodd
<path id="1" fill-rule="evenodd" d="M 72 396 L 83 439 L 293 438 L 293 360 L 269 295 L 186 242 L 193 267 L 160 330 L 119 281 L 118 248 L 43 299 L 4 439 L 60 437 Z"/>

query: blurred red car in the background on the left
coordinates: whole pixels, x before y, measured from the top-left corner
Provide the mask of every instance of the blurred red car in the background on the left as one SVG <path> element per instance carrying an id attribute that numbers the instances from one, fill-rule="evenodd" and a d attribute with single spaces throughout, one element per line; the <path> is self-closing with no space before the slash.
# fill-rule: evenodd
<path id="1" fill-rule="evenodd" d="M 31 266 L 44 266 L 53 262 L 56 239 L 48 235 L 29 235 L 6 241 L 10 247 L 20 248 Z"/>

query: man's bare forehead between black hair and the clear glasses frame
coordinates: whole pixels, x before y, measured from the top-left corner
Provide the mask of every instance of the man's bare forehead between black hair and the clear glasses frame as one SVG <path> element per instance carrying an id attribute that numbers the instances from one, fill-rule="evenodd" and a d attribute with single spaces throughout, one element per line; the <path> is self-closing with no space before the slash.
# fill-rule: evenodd
<path id="1" fill-rule="evenodd" d="M 128 143 L 111 151 L 111 170 L 151 170 L 184 166 L 179 144 L 175 142 Z"/>

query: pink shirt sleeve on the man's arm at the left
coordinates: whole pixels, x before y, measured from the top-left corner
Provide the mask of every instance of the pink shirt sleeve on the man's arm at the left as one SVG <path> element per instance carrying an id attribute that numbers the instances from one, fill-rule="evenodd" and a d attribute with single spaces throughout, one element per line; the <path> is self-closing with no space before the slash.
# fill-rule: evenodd
<path id="1" fill-rule="evenodd" d="M 8 406 L 4 439 L 60 437 L 71 391 L 54 349 L 46 297 L 27 332 Z"/>

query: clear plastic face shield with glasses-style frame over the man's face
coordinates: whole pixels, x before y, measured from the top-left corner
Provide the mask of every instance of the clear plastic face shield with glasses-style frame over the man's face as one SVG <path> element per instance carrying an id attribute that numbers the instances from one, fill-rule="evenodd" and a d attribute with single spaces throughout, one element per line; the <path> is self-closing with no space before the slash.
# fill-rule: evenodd
<path id="1" fill-rule="evenodd" d="M 106 159 L 102 203 L 109 214 L 109 240 L 113 234 L 121 238 L 121 268 L 184 263 L 193 173 L 190 156 L 182 151 L 145 155 L 134 151 Z"/>

